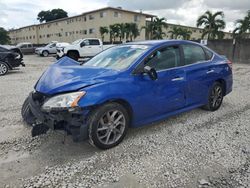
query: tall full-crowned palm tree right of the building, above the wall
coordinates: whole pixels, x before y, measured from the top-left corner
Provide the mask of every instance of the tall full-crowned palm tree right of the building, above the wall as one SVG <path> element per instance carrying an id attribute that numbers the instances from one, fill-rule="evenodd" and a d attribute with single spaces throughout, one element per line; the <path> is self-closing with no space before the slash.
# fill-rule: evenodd
<path id="1" fill-rule="evenodd" d="M 222 11 L 212 13 L 209 10 L 201 15 L 197 20 L 197 27 L 204 26 L 202 38 L 207 35 L 207 39 L 223 38 L 224 34 L 220 31 L 225 29 L 224 13 Z"/>

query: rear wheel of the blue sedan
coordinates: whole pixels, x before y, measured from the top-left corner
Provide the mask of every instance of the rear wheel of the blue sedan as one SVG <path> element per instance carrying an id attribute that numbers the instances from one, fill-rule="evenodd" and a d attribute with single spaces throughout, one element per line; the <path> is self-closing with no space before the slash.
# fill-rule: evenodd
<path id="1" fill-rule="evenodd" d="M 203 109 L 209 111 L 216 111 L 220 108 L 223 102 L 223 85 L 219 82 L 215 82 L 208 95 L 208 103 L 203 106 Z"/>

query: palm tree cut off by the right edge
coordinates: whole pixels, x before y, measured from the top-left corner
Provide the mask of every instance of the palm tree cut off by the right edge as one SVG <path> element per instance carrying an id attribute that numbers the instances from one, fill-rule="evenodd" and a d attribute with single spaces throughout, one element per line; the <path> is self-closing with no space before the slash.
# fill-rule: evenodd
<path id="1" fill-rule="evenodd" d="M 234 38 L 250 37 L 250 10 L 243 19 L 236 20 L 236 27 L 233 30 Z"/>

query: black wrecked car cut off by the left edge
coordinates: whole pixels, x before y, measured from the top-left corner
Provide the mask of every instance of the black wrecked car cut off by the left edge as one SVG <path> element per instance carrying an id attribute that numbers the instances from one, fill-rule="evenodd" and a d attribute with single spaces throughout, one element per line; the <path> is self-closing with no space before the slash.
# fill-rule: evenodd
<path id="1" fill-rule="evenodd" d="M 0 45 L 0 76 L 7 74 L 9 70 L 13 70 L 20 65 L 25 66 L 20 49 Z"/>

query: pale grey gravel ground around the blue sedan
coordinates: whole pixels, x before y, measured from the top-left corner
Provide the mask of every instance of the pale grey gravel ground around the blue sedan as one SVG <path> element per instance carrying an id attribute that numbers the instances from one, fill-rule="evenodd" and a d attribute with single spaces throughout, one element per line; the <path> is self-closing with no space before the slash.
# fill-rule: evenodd
<path id="1" fill-rule="evenodd" d="M 234 89 L 216 112 L 195 109 L 131 129 L 115 148 L 32 138 L 21 105 L 53 57 L 25 56 L 0 78 L 1 187 L 250 187 L 250 66 L 234 64 Z"/>

